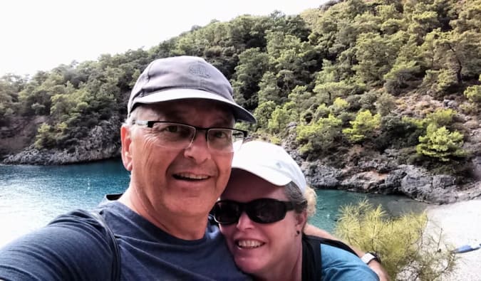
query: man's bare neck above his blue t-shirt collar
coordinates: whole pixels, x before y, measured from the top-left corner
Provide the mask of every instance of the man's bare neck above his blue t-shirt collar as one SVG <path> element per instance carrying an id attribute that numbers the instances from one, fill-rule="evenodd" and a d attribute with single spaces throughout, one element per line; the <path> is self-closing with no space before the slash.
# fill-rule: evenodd
<path id="1" fill-rule="evenodd" d="M 118 199 L 120 203 L 130 208 L 135 213 L 150 221 L 150 223 L 162 229 L 170 235 L 183 240 L 198 240 L 204 237 L 207 227 L 205 216 L 180 216 L 170 214 L 168 211 L 154 211 L 145 206 L 139 196 L 130 187 Z"/>

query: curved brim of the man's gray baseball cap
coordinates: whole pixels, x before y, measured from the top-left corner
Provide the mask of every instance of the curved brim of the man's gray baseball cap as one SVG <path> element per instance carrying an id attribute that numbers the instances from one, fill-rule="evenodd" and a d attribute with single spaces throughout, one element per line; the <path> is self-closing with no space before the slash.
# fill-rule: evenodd
<path id="1" fill-rule="evenodd" d="M 152 104 L 156 102 L 167 102 L 169 100 L 185 100 L 185 99 L 204 99 L 204 100 L 217 100 L 224 104 L 229 105 L 229 107 L 234 112 L 234 118 L 236 120 L 243 120 L 251 123 L 256 122 L 256 118 L 252 115 L 249 111 L 244 110 L 244 108 L 240 107 L 236 103 L 227 100 L 226 98 L 213 94 L 212 92 L 206 92 L 203 90 L 197 89 L 182 89 L 182 88 L 175 88 L 171 90 L 161 90 L 158 92 L 151 92 L 149 95 L 145 97 L 136 97 L 132 108 L 138 104 Z"/>

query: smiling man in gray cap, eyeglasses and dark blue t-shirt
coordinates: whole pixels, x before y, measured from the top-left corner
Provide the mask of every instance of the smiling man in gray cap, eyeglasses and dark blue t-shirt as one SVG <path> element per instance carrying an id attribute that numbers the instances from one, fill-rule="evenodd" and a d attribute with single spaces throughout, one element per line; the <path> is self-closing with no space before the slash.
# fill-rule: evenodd
<path id="1" fill-rule="evenodd" d="M 60 216 L 0 250 L 0 280 L 113 280 L 119 267 L 122 280 L 248 279 L 207 221 L 247 134 L 239 120 L 255 122 L 205 60 L 154 60 L 121 127 L 130 184 L 98 210 L 108 228 L 85 211 Z"/>

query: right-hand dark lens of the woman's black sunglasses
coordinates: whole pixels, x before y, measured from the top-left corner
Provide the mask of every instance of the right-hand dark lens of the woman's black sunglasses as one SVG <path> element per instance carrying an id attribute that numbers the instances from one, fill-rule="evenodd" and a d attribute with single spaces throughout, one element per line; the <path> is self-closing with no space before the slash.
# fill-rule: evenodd
<path id="1" fill-rule="evenodd" d="M 246 212 L 256 223 L 275 223 L 286 216 L 284 202 L 262 198 L 247 203 Z"/>

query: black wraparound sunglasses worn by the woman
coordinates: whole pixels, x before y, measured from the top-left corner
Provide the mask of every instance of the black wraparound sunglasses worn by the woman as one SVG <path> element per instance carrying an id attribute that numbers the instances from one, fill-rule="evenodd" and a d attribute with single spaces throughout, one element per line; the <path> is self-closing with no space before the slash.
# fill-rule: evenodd
<path id="1" fill-rule="evenodd" d="M 294 210 L 294 203 L 273 198 L 260 198 L 247 203 L 232 200 L 217 201 L 212 208 L 214 221 L 232 224 L 239 221 L 242 212 L 256 223 L 275 223 L 286 217 L 287 211 Z"/>

